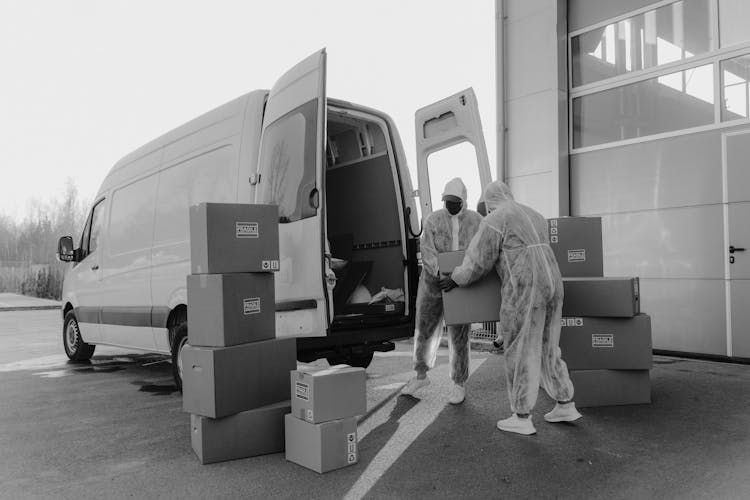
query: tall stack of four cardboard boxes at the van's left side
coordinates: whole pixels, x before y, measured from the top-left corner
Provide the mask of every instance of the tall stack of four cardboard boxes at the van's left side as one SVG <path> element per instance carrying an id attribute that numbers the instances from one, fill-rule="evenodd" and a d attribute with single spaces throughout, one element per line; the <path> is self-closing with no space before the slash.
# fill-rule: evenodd
<path id="1" fill-rule="evenodd" d="M 278 207 L 190 207 L 183 408 L 201 463 L 284 450 L 295 339 L 277 339 Z"/>

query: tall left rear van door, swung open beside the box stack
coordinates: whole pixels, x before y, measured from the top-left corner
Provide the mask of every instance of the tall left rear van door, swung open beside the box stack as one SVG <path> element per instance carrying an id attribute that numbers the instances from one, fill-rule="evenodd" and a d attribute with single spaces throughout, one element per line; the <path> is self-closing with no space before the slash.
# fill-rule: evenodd
<path id="1" fill-rule="evenodd" d="M 323 199 L 326 52 L 287 71 L 263 116 L 256 203 L 279 206 L 278 335 L 326 335 Z"/>

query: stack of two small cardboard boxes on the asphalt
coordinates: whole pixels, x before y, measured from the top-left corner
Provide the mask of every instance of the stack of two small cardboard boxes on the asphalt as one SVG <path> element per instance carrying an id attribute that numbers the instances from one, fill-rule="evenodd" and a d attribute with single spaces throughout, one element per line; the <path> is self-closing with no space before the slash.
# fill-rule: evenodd
<path id="1" fill-rule="evenodd" d="M 286 459 L 319 473 L 357 463 L 357 415 L 367 411 L 365 370 L 294 370 L 290 379 Z"/>

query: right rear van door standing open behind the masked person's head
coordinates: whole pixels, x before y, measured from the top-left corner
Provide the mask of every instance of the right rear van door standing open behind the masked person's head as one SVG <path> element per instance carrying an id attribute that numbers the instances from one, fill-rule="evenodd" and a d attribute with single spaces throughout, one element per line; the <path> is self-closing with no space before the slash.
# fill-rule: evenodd
<path id="1" fill-rule="evenodd" d="M 417 110 L 415 125 L 417 175 L 422 217 L 426 217 L 432 212 L 432 192 L 442 189 L 444 181 L 452 177 L 461 177 L 470 193 L 472 189 L 479 190 L 480 192 L 475 194 L 477 198 L 481 197 L 484 187 L 492 182 L 492 175 L 474 89 L 470 87 Z M 440 176 L 433 172 L 436 175 L 433 175 L 431 184 L 428 157 L 433 153 L 463 142 L 474 146 L 478 172 L 467 171 L 466 168 L 461 168 L 461 165 L 453 166 L 450 170 L 442 172 Z M 443 182 L 439 182 L 438 177 Z M 475 182 L 472 182 L 472 180 Z M 476 183 L 479 185 L 474 185 Z M 467 208 L 475 210 L 477 207 L 469 206 Z"/>

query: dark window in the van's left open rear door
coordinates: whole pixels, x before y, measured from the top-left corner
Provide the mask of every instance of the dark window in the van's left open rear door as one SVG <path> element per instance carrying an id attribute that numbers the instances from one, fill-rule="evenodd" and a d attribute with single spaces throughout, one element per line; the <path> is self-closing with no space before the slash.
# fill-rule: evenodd
<path id="1" fill-rule="evenodd" d="M 317 99 L 309 101 L 273 122 L 263 132 L 257 201 L 278 205 L 282 223 L 316 214 L 310 195 L 316 187 L 317 107 Z"/>

